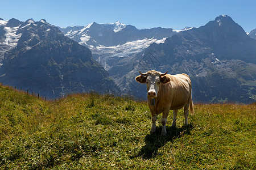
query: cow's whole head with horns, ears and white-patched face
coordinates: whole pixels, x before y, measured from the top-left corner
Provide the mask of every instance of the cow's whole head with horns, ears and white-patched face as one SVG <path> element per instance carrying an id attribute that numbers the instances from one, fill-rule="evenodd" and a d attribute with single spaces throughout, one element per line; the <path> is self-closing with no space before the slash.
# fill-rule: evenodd
<path id="1" fill-rule="evenodd" d="M 158 96 L 158 92 L 160 90 L 161 83 L 165 84 L 170 82 L 170 78 L 166 76 L 166 73 L 161 73 L 159 71 L 147 71 L 147 73 L 141 73 L 141 75 L 137 76 L 135 79 L 139 83 L 146 83 L 147 85 L 147 96 L 151 98 L 155 98 Z"/>

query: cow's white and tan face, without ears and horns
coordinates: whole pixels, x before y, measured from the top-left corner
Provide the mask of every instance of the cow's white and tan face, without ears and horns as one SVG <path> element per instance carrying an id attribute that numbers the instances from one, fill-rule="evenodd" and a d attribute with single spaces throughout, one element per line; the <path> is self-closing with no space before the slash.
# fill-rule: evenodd
<path id="1" fill-rule="evenodd" d="M 157 74 L 150 74 L 147 76 L 147 96 L 154 98 L 158 96 L 160 88 L 160 76 Z"/>

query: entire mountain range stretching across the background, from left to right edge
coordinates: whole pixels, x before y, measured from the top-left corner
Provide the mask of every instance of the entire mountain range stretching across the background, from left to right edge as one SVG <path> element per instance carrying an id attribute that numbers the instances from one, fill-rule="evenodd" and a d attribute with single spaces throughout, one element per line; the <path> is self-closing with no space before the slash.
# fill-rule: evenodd
<path id="1" fill-rule="evenodd" d="M 43 19 L 0 19 L 0 82 L 49 97 L 120 90 L 146 99 L 146 87 L 134 80 L 138 70 L 169 70 L 191 77 L 194 101 L 253 102 L 254 31 L 247 35 L 228 15 L 182 30 L 120 22 L 60 28 Z"/>

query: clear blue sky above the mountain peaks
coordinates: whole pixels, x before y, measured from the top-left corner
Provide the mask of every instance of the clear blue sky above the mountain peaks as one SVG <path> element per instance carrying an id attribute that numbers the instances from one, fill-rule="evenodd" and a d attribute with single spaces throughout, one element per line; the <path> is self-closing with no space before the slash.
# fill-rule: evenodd
<path id="1" fill-rule="evenodd" d="M 255 0 L 0 0 L 0 18 L 21 21 L 46 19 L 60 27 L 96 23 L 123 24 L 141 28 L 200 27 L 227 14 L 246 32 L 256 28 Z"/>

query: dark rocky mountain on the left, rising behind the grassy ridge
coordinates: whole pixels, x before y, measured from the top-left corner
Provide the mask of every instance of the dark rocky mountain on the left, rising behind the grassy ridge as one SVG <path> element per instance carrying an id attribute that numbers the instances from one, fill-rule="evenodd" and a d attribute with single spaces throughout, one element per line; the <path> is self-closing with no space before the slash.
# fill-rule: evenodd
<path id="1" fill-rule="evenodd" d="M 5 29 L 14 27 L 19 37 L 5 51 L 0 82 L 49 98 L 91 90 L 118 90 L 104 68 L 92 59 L 90 50 L 65 37 L 59 28 L 43 19 L 26 24 L 10 21 Z"/>

